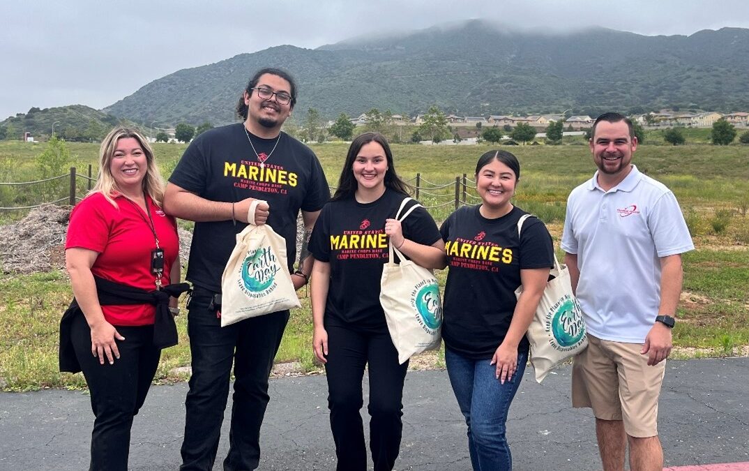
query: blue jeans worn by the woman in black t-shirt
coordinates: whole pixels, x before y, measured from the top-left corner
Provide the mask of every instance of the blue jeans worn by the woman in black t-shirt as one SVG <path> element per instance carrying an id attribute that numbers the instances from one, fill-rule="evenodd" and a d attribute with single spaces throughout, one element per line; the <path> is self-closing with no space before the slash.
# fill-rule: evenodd
<path id="1" fill-rule="evenodd" d="M 505 437 L 507 413 L 518 392 L 528 349 L 518 351 L 518 365 L 511 380 L 497 380 L 491 360 L 467 359 L 445 349 L 445 363 L 452 391 L 468 426 L 468 451 L 474 471 L 512 469 L 512 454 Z"/>

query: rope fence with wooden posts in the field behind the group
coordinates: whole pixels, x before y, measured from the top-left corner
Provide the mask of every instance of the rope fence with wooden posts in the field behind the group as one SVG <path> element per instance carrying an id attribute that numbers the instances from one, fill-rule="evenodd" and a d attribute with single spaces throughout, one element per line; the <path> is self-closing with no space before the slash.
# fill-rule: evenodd
<path id="1" fill-rule="evenodd" d="M 0 206 L 0 211 L 33 209 L 45 204 L 58 204 L 65 201 L 67 201 L 67 204 L 74 206 L 77 202 L 83 199 L 82 196 L 79 196 L 79 193 L 86 190 L 91 190 L 92 184 L 96 181 L 96 178 L 91 177 L 91 165 L 89 165 L 88 175 L 79 174 L 76 171 L 76 167 L 70 167 L 70 173 L 67 173 L 65 175 L 58 175 L 51 178 L 42 178 L 40 180 L 34 181 L 0 182 L 0 189 L 3 187 L 23 188 L 34 184 L 44 184 L 50 181 L 61 181 L 65 178 L 67 178 L 70 183 L 67 188 L 66 196 L 60 195 L 60 193 L 64 193 L 64 190 L 62 189 L 62 187 L 59 187 L 56 189 L 56 191 L 58 191 L 57 195 L 60 197 L 55 197 L 55 195 L 52 195 L 53 197 L 55 197 L 55 199 L 31 205 L 22 204 L 15 206 Z M 79 185 L 79 179 L 85 182 L 85 184 Z M 424 207 L 428 209 L 442 208 L 447 205 L 453 205 L 455 209 L 458 209 L 461 207 L 461 205 L 470 205 L 473 204 L 473 202 L 479 201 L 481 199 L 478 196 L 474 196 L 473 194 L 469 193 L 469 190 L 473 190 L 473 183 L 475 182 L 470 178 L 467 178 L 466 174 L 456 176 L 455 181 L 450 181 L 449 183 L 435 183 L 434 181 L 428 181 L 427 179 L 422 177 L 421 173 L 416 173 L 416 176 L 405 181 L 414 182 L 413 184 L 409 184 L 414 198 L 419 199 L 419 197 L 426 197 L 426 199 L 428 199 L 428 201 L 424 205 Z M 449 192 L 446 191 L 441 194 L 436 192 L 437 190 L 445 190 L 447 188 L 451 188 L 452 190 L 449 190 Z M 335 191 L 336 187 L 331 186 L 330 189 Z M 20 196 L 28 196 L 28 192 L 22 193 Z M 23 200 L 21 199 L 21 201 Z"/>

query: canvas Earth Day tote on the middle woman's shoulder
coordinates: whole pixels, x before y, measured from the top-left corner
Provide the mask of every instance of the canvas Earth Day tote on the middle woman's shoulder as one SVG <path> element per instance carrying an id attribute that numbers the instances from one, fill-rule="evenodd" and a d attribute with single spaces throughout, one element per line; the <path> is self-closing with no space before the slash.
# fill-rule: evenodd
<path id="1" fill-rule="evenodd" d="M 406 203 L 401 202 L 395 219 L 401 222 L 416 208 L 413 205 L 401 216 Z M 393 254 L 400 260 L 396 264 Z M 442 337 L 442 302 L 437 278 L 430 269 L 406 260 L 397 248 L 389 243 L 389 258 L 382 269 L 380 279 L 380 305 L 385 311 L 390 338 L 398 350 L 398 362 L 403 365 L 407 359 L 425 350 L 440 347 Z"/>

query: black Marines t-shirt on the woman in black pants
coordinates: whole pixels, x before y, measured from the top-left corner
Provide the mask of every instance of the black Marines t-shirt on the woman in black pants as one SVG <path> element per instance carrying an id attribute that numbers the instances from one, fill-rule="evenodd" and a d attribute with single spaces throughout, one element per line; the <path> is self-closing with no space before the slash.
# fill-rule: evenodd
<path id="1" fill-rule="evenodd" d="M 330 263 L 326 326 L 386 329 L 380 305 L 380 278 L 389 243 L 385 220 L 395 217 L 403 199 L 404 195 L 388 189 L 374 202 L 360 203 L 352 196 L 323 207 L 309 251 L 316 260 Z M 407 202 L 404 211 L 414 204 Z M 424 208 L 414 209 L 402 227 L 410 241 L 432 245 L 440 240 L 437 223 Z"/>

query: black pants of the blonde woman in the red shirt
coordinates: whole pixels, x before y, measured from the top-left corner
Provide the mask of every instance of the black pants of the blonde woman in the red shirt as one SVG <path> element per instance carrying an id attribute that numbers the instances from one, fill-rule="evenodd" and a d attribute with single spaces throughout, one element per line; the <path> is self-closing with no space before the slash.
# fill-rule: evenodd
<path id="1" fill-rule="evenodd" d="M 91 392 L 94 431 L 91 432 L 89 469 L 127 470 L 130 428 L 143 405 L 159 365 L 161 351 L 154 347 L 154 326 L 115 326 L 124 338 L 116 341 L 120 359 L 114 365 L 91 354 L 91 329 L 77 316 L 70 329 L 73 349 Z"/>

